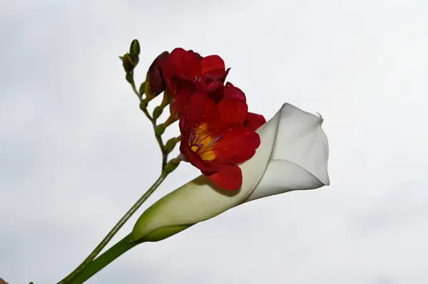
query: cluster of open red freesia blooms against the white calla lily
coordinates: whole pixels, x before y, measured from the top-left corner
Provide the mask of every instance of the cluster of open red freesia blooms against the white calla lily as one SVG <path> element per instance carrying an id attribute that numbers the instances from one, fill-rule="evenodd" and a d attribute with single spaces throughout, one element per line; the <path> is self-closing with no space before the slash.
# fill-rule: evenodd
<path id="1" fill-rule="evenodd" d="M 265 117 L 248 112 L 243 91 L 225 83 L 230 68 L 219 56 L 175 48 L 158 64 L 171 97 L 171 117 L 180 120 L 183 159 L 223 189 L 239 189 L 237 164 L 255 154 L 260 145 L 255 130 Z"/>

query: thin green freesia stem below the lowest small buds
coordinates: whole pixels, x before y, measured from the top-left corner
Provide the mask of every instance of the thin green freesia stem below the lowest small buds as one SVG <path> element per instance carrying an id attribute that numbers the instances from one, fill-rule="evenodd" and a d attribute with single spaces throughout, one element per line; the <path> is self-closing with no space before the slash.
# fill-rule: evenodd
<path id="1" fill-rule="evenodd" d="M 168 176 L 168 174 L 169 172 L 162 172 L 161 177 L 159 177 L 158 180 L 156 180 L 156 182 L 151 186 L 151 188 L 148 189 L 148 191 L 146 191 L 146 193 L 143 194 L 143 196 L 141 196 L 141 198 L 138 199 L 138 201 L 136 201 L 136 204 L 134 204 L 131 207 L 131 209 L 129 209 L 128 212 L 126 212 L 126 214 L 122 217 L 122 219 L 119 220 L 118 223 L 116 223 L 116 225 L 111 229 L 111 231 L 108 232 L 107 236 L 103 238 L 103 241 L 101 241 L 101 243 L 98 244 L 98 246 L 92 251 L 92 253 L 81 263 L 81 265 L 78 265 L 78 267 L 75 270 L 73 270 L 70 274 L 68 274 L 66 278 L 63 278 L 63 280 L 58 282 L 58 284 L 68 283 L 70 280 L 75 278 L 76 275 L 78 275 L 83 270 L 85 270 L 86 267 L 89 265 L 89 263 L 91 263 L 91 261 L 93 261 L 93 259 L 96 258 L 96 256 L 98 256 L 99 253 L 101 253 L 103 248 L 106 247 L 107 243 L 111 241 L 111 238 L 113 238 L 113 236 L 116 235 L 116 233 L 126 223 L 126 221 L 128 221 L 128 219 L 131 218 L 131 216 L 138 210 L 138 208 L 140 208 L 143 202 L 146 201 L 146 199 L 148 199 L 148 197 L 151 196 L 151 194 L 153 194 L 153 191 L 155 191 L 158 188 L 158 186 L 163 182 L 163 180 L 165 179 L 165 177 Z"/>

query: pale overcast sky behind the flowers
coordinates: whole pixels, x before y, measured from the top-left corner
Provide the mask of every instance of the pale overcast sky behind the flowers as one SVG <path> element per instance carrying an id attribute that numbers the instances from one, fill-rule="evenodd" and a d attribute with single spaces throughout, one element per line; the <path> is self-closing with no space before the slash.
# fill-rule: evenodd
<path id="1" fill-rule="evenodd" d="M 87 283 L 428 283 L 427 9 L 2 0 L 0 278 L 58 282 L 158 176 L 151 125 L 118 60 L 138 38 L 138 83 L 180 46 L 222 56 L 253 112 L 270 118 L 283 102 L 320 112 L 331 186 L 143 243 Z M 197 175 L 181 165 L 143 207 Z"/>

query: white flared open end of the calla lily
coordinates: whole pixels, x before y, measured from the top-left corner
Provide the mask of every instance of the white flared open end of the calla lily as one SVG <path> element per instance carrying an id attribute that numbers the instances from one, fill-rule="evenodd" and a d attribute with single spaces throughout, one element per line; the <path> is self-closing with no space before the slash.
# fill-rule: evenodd
<path id="1" fill-rule="evenodd" d="M 271 161 L 247 201 L 297 189 L 330 184 L 328 141 L 322 118 L 284 104 L 280 112 Z"/>

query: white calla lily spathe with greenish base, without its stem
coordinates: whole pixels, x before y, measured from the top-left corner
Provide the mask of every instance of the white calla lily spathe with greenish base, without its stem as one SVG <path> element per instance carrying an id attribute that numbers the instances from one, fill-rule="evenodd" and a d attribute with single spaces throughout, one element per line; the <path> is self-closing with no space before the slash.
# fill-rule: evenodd
<path id="1" fill-rule="evenodd" d="M 329 149 L 321 125 L 322 117 L 282 105 L 257 130 L 261 143 L 255 155 L 239 165 L 243 183 L 238 191 L 225 191 L 207 177 L 197 177 L 144 211 L 131 238 L 161 241 L 247 201 L 329 185 Z"/>

